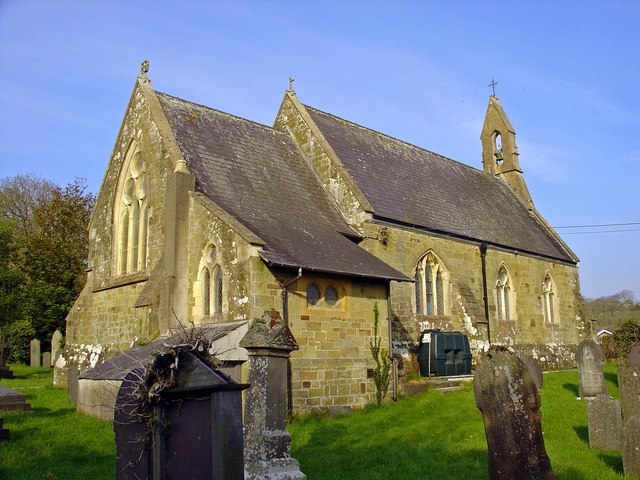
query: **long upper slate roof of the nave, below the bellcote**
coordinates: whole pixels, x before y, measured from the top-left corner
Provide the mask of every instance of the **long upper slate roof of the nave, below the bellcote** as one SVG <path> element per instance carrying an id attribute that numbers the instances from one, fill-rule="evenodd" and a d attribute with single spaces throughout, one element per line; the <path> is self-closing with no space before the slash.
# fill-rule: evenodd
<path id="1" fill-rule="evenodd" d="M 374 218 L 575 263 L 500 179 L 305 106 Z"/>

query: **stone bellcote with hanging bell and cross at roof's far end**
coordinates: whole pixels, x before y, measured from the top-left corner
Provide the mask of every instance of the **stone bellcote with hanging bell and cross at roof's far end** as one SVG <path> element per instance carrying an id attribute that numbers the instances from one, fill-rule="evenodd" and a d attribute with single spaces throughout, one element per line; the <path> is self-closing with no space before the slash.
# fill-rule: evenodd
<path id="1" fill-rule="evenodd" d="M 529 189 L 520 169 L 516 131 L 495 95 L 489 97 L 480 141 L 484 171 L 500 177 L 527 206 L 533 207 Z"/>

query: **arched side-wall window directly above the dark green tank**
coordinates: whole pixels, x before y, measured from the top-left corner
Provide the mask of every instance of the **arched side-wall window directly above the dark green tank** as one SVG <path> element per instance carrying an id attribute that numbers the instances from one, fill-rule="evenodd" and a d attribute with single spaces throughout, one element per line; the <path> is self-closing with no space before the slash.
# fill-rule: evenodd
<path id="1" fill-rule="evenodd" d="M 447 271 L 433 252 L 427 252 L 416 266 L 416 313 L 447 315 Z"/>

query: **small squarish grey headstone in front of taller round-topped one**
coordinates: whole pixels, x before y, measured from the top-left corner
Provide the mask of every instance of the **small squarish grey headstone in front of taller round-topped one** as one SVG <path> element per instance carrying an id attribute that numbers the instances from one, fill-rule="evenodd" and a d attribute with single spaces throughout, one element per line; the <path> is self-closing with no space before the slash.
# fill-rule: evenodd
<path id="1" fill-rule="evenodd" d="M 587 399 L 589 448 L 620 451 L 622 446 L 622 414 L 620 402 L 600 394 Z"/>

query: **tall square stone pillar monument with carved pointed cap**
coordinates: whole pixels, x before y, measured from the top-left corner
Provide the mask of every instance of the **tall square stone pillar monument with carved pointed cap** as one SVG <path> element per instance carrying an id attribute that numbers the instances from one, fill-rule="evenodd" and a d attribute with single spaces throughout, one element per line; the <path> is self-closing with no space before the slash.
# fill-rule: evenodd
<path id="1" fill-rule="evenodd" d="M 288 362 L 298 344 L 279 314 L 269 310 L 253 321 L 240 346 L 249 354 L 251 384 L 245 399 L 245 478 L 305 479 L 291 457 L 286 430 Z"/>

